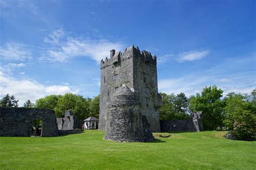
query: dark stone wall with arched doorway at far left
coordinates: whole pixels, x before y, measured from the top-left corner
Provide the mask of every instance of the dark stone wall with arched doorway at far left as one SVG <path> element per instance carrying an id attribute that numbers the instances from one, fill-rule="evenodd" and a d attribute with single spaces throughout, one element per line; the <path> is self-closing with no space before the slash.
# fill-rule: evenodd
<path id="1" fill-rule="evenodd" d="M 43 121 L 42 137 L 58 136 L 55 112 L 38 108 L 0 108 L 0 136 L 30 136 L 35 119 Z"/>

